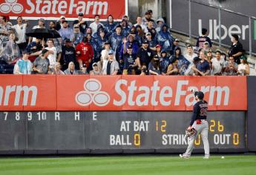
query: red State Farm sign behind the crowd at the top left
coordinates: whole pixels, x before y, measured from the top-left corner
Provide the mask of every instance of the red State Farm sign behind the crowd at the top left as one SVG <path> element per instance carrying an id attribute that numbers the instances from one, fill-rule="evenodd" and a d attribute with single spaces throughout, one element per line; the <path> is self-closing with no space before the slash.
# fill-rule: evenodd
<path id="1" fill-rule="evenodd" d="M 125 0 L 0 0 L 0 15 L 2 16 L 22 16 L 22 17 L 45 17 L 77 18 L 77 14 L 82 12 L 85 18 L 93 19 L 97 14 L 101 19 L 107 19 L 108 15 L 114 19 L 122 19 L 127 13 Z"/>

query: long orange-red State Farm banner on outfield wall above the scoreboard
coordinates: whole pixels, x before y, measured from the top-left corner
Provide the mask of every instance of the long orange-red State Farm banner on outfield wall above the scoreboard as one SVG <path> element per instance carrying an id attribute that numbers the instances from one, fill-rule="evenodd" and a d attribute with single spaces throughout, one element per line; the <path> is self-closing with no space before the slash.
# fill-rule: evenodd
<path id="1" fill-rule="evenodd" d="M 0 76 L 0 110 L 247 110 L 246 76 Z"/>

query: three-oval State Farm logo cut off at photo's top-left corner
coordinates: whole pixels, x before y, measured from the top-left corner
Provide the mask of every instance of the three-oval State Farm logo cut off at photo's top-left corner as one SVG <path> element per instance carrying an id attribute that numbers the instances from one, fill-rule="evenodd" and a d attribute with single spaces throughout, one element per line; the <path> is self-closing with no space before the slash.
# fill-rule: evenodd
<path id="1" fill-rule="evenodd" d="M 22 4 L 17 3 L 17 0 L 5 0 L 5 3 L 0 4 L 1 13 L 22 13 Z"/>

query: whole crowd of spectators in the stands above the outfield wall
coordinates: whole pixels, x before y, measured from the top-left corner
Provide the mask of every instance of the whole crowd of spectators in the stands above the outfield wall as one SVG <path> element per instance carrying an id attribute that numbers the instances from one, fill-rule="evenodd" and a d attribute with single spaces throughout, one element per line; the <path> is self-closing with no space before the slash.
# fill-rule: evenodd
<path id="1" fill-rule="evenodd" d="M 137 17 L 132 24 L 128 16 L 114 22 L 100 22 L 96 15 L 88 24 L 84 14 L 69 24 L 65 16 L 45 23 L 39 19 L 30 26 L 22 16 L 11 24 L 0 16 L 0 73 L 14 74 L 91 74 L 91 75 L 249 75 L 243 45 L 232 35 L 229 53 L 212 50 L 207 29 L 195 46 L 187 45 L 182 53 L 180 40 L 160 18 L 152 19 L 152 11 Z M 60 38 L 27 37 L 27 31 L 48 28 L 58 31 Z"/>

